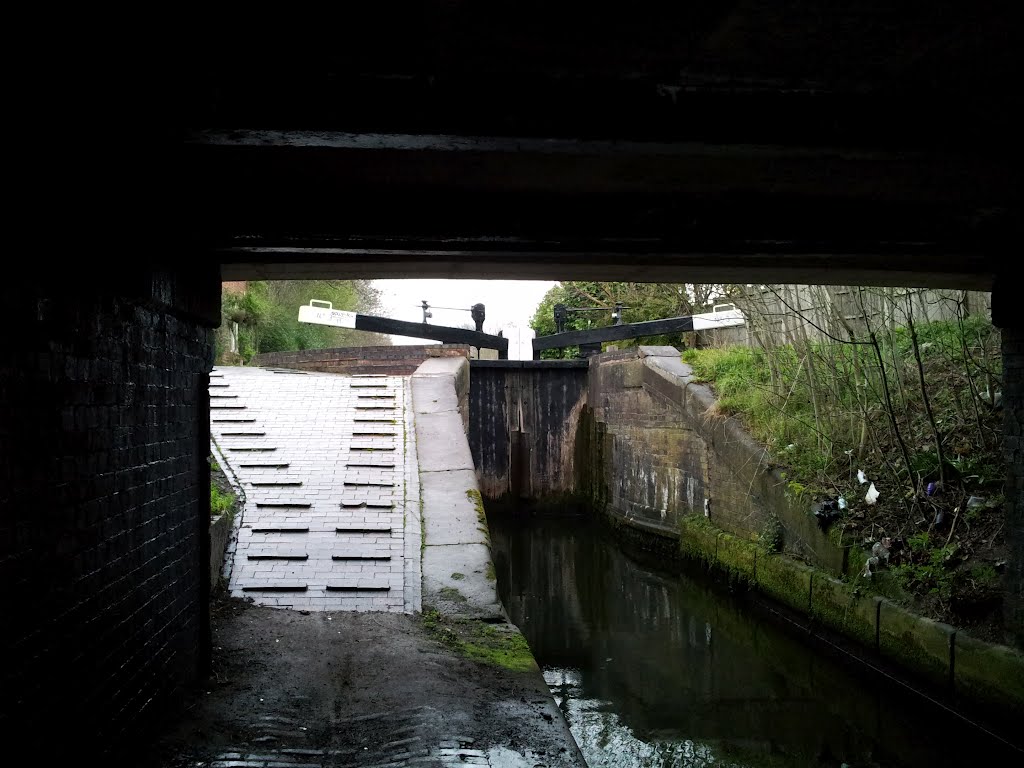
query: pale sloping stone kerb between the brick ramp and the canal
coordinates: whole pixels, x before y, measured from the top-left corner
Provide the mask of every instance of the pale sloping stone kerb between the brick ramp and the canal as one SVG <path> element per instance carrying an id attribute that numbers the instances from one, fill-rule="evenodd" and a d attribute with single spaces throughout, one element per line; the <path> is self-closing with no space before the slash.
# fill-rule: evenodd
<path id="1" fill-rule="evenodd" d="M 423 603 L 452 617 L 507 621 L 463 420 L 468 381 L 465 358 L 426 360 L 412 377 L 423 501 Z"/>

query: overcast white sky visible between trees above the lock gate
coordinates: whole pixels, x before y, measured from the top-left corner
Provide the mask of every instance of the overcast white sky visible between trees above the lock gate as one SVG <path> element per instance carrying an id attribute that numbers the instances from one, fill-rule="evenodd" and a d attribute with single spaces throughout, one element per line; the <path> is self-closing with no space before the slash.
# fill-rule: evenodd
<path id="1" fill-rule="evenodd" d="M 433 316 L 427 321 L 436 326 L 469 325 L 473 304 L 486 307 L 483 331 L 505 332 L 509 340 L 509 359 L 528 360 L 532 357 L 530 340 L 534 331 L 529 319 L 544 294 L 557 285 L 552 281 L 516 280 L 378 280 L 374 286 L 381 292 L 381 311 L 386 317 L 423 322 L 421 302 L 426 299 Z M 440 309 L 461 307 L 465 311 Z M 395 344 L 427 344 L 423 339 L 392 336 Z"/>

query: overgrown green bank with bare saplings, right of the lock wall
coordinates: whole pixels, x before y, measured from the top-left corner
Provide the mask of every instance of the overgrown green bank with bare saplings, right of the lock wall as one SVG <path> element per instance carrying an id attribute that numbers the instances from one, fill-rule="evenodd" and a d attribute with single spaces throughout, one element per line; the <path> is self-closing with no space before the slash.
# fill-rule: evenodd
<path id="1" fill-rule="evenodd" d="M 900 545 L 894 586 L 932 617 L 956 621 L 1001 581 L 990 563 L 1000 556 L 1002 414 L 988 394 L 1000 388 L 999 335 L 975 315 L 914 331 L 916 341 L 908 329 L 880 331 L 878 347 L 868 337 L 691 349 L 682 359 L 715 390 L 708 418 L 739 420 L 767 449 L 788 499 L 808 510 L 845 499 L 829 538 L 869 550 L 890 537 Z M 876 504 L 860 469 L 881 493 Z M 760 539 L 774 550 L 781 531 L 769 525 Z"/>

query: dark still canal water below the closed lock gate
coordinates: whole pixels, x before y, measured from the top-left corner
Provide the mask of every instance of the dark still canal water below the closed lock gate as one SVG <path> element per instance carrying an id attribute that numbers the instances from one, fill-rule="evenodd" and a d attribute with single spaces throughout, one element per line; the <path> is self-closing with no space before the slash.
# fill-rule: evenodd
<path id="1" fill-rule="evenodd" d="M 502 600 L 591 768 L 1024 765 L 586 518 L 488 517 Z"/>

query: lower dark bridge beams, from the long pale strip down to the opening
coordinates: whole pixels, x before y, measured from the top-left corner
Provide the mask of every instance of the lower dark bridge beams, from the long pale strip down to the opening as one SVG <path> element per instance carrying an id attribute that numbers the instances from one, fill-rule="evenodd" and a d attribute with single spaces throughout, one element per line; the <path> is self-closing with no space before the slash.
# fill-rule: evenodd
<path id="1" fill-rule="evenodd" d="M 399 274 L 990 290 L 1011 169 L 937 152 L 203 131 L 226 280 Z"/>

